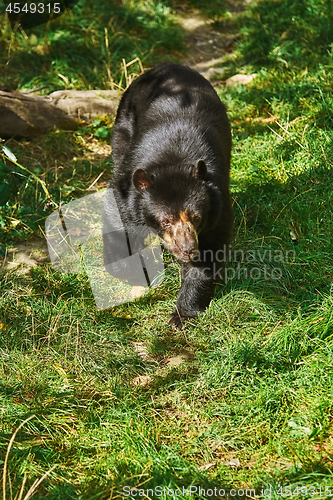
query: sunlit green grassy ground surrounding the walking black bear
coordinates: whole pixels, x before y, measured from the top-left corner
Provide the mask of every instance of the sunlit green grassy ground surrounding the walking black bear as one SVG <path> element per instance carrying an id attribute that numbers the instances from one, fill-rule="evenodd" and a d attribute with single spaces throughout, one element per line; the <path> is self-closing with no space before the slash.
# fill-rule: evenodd
<path id="1" fill-rule="evenodd" d="M 3 26 L 1 84 L 109 88 L 108 57 L 120 85 L 122 58 L 140 57 L 145 67 L 182 60 L 177 5 L 119 2 L 111 15 L 103 5 L 80 3 L 48 34 Z M 257 73 L 246 87 L 216 86 L 234 137 L 227 274 L 209 309 L 172 333 L 175 262 L 159 288 L 100 312 L 83 273 L 49 264 L 2 272 L 7 499 L 28 498 L 48 471 L 35 498 L 119 498 L 125 486 L 145 494 L 155 486 L 236 488 L 233 498 L 249 488 L 273 499 L 333 493 L 332 11 L 323 0 L 262 0 L 239 14 L 216 2 L 190 7 L 215 30 L 240 33 L 219 63 L 226 76 Z M 111 130 L 95 122 L 6 145 L 59 204 L 87 194 L 105 170 L 97 188 L 104 185 Z M 52 211 L 36 178 L 4 163 L 3 255 L 41 235 Z M 186 362 L 177 364 L 180 356 Z"/>

